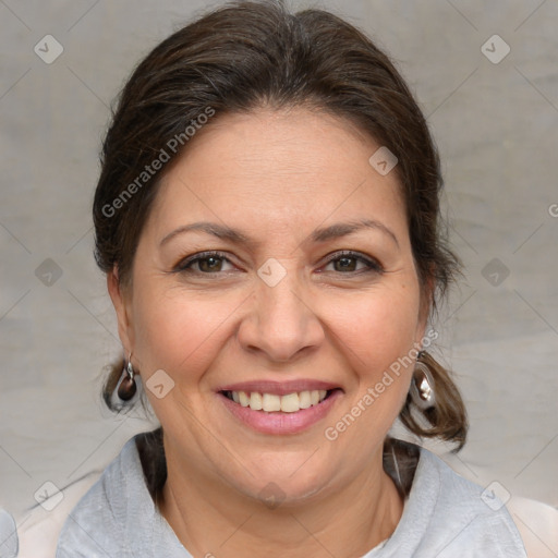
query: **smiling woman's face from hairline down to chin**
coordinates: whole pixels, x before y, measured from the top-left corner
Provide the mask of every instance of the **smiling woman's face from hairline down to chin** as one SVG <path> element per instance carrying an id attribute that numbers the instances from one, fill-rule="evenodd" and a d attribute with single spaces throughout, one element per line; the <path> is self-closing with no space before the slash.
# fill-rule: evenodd
<path id="1" fill-rule="evenodd" d="M 416 354 L 427 308 L 379 147 L 260 109 L 217 116 L 169 169 L 132 288 L 109 289 L 170 468 L 294 502 L 381 466 L 412 366 L 385 373 Z"/>

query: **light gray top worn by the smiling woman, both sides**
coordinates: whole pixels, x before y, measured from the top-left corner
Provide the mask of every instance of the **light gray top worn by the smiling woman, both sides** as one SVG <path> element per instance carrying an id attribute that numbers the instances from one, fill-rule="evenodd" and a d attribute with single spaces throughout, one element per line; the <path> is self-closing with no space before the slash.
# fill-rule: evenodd
<path id="1" fill-rule="evenodd" d="M 421 448 L 393 534 L 363 558 L 526 558 L 507 509 Z M 192 558 L 145 484 L 135 439 L 105 470 L 66 519 L 57 558 Z"/>

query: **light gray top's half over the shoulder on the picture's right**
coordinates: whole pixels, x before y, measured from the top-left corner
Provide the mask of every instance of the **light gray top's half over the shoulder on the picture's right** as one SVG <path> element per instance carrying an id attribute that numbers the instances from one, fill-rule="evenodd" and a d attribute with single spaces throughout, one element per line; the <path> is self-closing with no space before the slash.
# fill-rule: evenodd
<path id="1" fill-rule="evenodd" d="M 519 532 L 496 496 L 425 448 L 399 442 L 418 454 L 411 489 L 396 531 L 366 558 L 526 558 Z"/>

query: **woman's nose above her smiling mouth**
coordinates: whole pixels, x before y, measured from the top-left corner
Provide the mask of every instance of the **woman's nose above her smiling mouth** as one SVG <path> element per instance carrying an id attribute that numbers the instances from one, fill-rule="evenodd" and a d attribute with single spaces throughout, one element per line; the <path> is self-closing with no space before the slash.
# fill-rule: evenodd
<path id="1" fill-rule="evenodd" d="M 311 302 L 294 271 L 275 287 L 258 279 L 250 311 L 239 327 L 241 345 L 274 362 L 288 362 L 317 348 L 325 336 Z"/>

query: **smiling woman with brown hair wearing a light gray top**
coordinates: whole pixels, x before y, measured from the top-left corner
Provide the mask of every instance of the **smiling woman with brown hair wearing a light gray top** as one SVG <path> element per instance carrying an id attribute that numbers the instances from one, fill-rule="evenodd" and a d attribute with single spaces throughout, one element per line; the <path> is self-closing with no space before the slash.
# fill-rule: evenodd
<path id="1" fill-rule="evenodd" d="M 138 65 L 104 145 L 96 258 L 161 427 L 70 514 L 60 558 L 524 557 L 505 508 L 388 432 L 460 449 L 426 350 L 454 276 L 437 153 L 387 57 L 338 17 L 239 2 Z"/>

